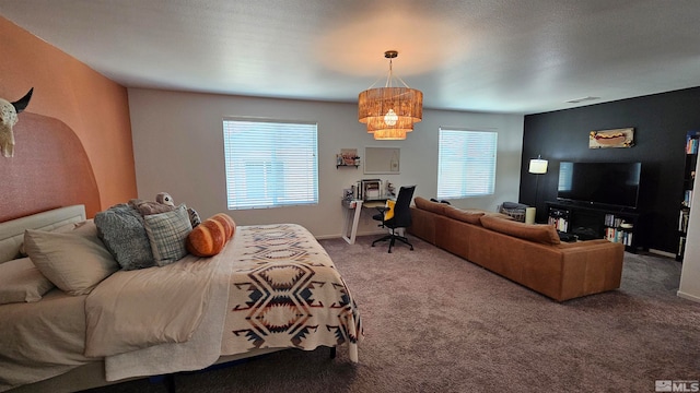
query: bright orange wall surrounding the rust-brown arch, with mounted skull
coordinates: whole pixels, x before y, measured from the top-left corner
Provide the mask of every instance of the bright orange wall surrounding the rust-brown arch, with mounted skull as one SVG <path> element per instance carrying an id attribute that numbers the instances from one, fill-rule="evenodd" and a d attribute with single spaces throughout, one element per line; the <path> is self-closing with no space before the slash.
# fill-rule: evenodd
<path id="1" fill-rule="evenodd" d="M 0 37 L 0 97 L 13 102 L 34 87 L 26 111 L 57 118 L 75 132 L 92 164 L 101 210 L 137 198 L 127 88 L 2 16 Z M 0 155 L 0 165 L 8 159 Z"/>

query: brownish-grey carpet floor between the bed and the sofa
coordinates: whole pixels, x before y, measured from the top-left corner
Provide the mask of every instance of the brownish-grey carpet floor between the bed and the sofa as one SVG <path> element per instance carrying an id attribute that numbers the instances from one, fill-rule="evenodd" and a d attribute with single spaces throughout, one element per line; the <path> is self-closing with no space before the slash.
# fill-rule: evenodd
<path id="1" fill-rule="evenodd" d="M 700 379 L 700 303 L 676 296 L 672 259 L 626 253 L 619 289 L 558 303 L 415 237 L 390 254 L 373 239 L 320 240 L 363 319 L 359 364 L 345 347 L 284 350 L 177 373 L 177 392 L 654 392 Z"/>

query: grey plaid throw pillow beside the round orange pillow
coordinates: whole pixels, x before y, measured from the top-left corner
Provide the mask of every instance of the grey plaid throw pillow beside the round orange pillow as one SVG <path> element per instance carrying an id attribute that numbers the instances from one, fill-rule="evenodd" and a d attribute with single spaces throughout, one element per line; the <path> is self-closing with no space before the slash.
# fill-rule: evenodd
<path id="1" fill-rule="evenodd" d="M 159 266 L 173 263 L 187 254 L 185 239 L 192 230 L 187 206 L 171 212 L 143 216 L 153 259 Z"/>

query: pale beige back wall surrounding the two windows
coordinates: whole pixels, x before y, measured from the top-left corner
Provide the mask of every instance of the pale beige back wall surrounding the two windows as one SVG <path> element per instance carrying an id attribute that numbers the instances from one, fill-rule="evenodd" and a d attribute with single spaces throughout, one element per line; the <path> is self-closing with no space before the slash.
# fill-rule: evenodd
<path id="1" fill-rule="evenodd" d="M 357 104 L 285 100 L 213 94 L 129 88 L 131 132 L 139 198 L 153 200 L 168 192 L 203 218 L 226 212 L 222 118 L 252 116 L 318 122 L 319 203 L 316 206 L 229 211 L 238 225 L 295 223 L 318 238 L 341 234 L 343 188 L 361 178 L 389 180 L 397 187 L 417 184 L 415 196 L 435 198 L 439 128 L 492 130 L 499 133 L 495 194 L 453 201 L 460 207 L 495 210 L 517 201 L 523 116 L 423 109 L 405 141 L 375 141 L 358 122 Z M 400 175 L 363 175 L 362 167 L 336 169 L 340 148 L 397 146 Z M 363 214 L 359 235 L 376 233 Z"/>

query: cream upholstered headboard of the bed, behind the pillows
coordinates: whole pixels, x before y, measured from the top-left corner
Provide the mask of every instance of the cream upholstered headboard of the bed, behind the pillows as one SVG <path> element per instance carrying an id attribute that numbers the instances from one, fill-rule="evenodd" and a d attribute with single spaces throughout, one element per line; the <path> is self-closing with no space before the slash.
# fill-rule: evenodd
<path id="1" fill-rule="evenodd" d="M 51 230 L 84 219 L 85 206 L 73 205 L 0 223 L 0 263 L 10 261 L 20 253 L 25 229 Z"/>

